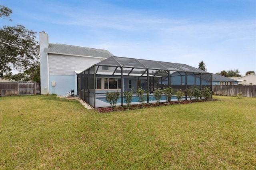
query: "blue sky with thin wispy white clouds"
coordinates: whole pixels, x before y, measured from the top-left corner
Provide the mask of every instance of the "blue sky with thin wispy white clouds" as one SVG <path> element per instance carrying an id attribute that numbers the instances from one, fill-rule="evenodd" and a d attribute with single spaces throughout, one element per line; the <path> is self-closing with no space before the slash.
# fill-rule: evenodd
<path id="1" fill-rule="evenodd" d="M 1 0 L 12 22 L 49 43 L 115 56 L 256 72 L 256 0 Z"/>

